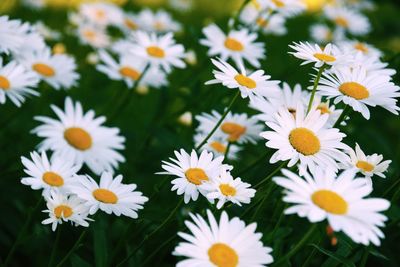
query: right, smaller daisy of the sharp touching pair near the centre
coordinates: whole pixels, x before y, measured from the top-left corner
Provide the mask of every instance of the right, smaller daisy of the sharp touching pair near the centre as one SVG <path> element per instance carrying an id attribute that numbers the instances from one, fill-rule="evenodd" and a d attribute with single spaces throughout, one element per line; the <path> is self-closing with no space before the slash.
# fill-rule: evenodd
<path id="1" fill-rule="evenodd" d="M 209 192 L 206 197 L 212 201 L 218 200 L 217 209 L 222 208 L 225 202 L 242 206 L 249 204 L 256 190 L 250 184 L 242 182 L 240 178 L 234 179 L 230 172 L 222 172 L 217 179 L 201 185 L 202 189 Z"/>

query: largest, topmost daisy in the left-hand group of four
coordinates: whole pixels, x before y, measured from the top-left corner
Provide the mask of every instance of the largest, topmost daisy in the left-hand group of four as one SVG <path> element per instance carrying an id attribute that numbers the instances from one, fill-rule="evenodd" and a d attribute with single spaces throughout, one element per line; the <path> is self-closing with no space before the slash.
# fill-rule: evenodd
<path id="1" fill-rule="evenodd" d="M 79 102 L 65 99 L 65 111 L 51 105 L 59 120 L 36 116 L 42 122 L 32 133 L 45 140 L 39 145 L 41 151 L 51 150 L 53 156 L 68 159 L 77 165 L 85 163 L 94 173 L 112 171 L 124 162 L 117 150 L 124 149 L 125 138 L 118 128 L 102 126 L 105 117 L 95 118 L 93 110 L 83 113 Z"/>

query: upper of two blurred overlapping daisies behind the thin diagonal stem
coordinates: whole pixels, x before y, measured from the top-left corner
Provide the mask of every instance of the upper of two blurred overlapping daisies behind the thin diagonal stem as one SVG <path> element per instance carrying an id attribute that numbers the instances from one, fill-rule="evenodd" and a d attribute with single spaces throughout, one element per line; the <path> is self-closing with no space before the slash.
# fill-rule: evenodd
<path id="1" fill-rule="evenodd" d="M 215 110 L 211 114 L 202 113 L 197 115 L 195 118 L 200 123 L 198 131 L 205 134 L 210 133 L 221 119 L 221 116 Z M 263 129 L 264 126 L 258 124 L 258 119 L 255 116 L 249 117 L 245 113 L 233 114 L 229 112 L 214 135 L 238 144 L 248 142 L 255 144 L 260 139 L 259 134 Z"/>

